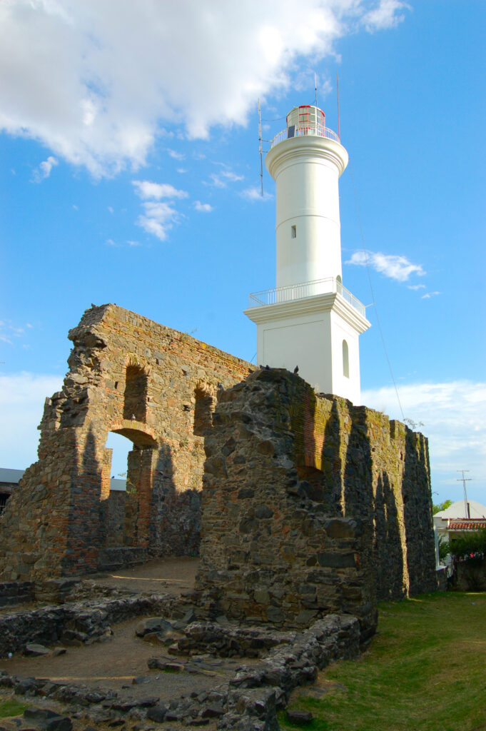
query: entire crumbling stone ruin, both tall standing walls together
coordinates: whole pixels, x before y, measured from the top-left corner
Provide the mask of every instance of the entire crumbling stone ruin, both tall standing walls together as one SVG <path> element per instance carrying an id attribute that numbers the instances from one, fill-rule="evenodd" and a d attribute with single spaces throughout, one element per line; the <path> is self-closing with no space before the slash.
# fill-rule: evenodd
<path id="1" fill-rule="evenodd" d="M 344 611 L 363 637 L 377 599 L 436 588 L 421 434 L 114 305 L 69 338 L 39 460 L 0 518 L 0 580 L 200 548 L 211 613 L 299 626 Z M 133 444 L 123 497 L 110 431 Z"/>

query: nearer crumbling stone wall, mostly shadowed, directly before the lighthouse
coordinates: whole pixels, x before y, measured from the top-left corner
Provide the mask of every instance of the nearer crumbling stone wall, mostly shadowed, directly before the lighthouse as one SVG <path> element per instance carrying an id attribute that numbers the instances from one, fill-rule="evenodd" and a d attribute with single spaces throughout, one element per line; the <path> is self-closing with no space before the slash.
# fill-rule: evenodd
<path id="1" fill-rule="evenodd" d="M 197 588 L 281 625 L 436 588 L 427 440 L 273 368 L 222 393 L 205 439 Z"/>

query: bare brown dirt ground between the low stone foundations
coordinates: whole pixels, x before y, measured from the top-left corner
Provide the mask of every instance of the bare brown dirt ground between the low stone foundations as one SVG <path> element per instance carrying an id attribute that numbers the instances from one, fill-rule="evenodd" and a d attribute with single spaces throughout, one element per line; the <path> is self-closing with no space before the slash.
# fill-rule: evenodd
<path id="1" fill-rule="evenodd" d="M 180 594 L 193 588 L 197 562 L 197 558 L 164 558 L 132 569 L 90 575 L 87 580 L 89 583 L 133 592 Z M 113 635 L 103 642 L 67 647 L 66 653 L 58 656 L 25 657 L 16 654 L 10 659 L 1 659 L 0 669 L 6 670 L 9 675 L 24 678 L 49 678 L 52 681 L 111 689 L 123 696 L 124 700 L 157 697 L 163 702 L 191 692 L 214 689 L 228 681 L 238 665 L 246 662 L 209 656 L 179 659 L 170 655 L 164 644 L 150 643 L 136 637 L 135 628 L 140 621 L 141 618 L 134 618 L 115 624 L 112 626 Z M 181 662 L 184 669 L 171 673 L 149 670 L 147 661 L 151 657 Z M 1 692 L 0 698 L 8 695 L 9 692 Z M 32 700 L 34 705 L 45 705 L 42 702 L 39 704 L 41 699 Z M 53 707 L 51 699 L 46 699 L 46 703 Z M 171 727 L 178 728 L 178 724 L 171 724 Z"/>

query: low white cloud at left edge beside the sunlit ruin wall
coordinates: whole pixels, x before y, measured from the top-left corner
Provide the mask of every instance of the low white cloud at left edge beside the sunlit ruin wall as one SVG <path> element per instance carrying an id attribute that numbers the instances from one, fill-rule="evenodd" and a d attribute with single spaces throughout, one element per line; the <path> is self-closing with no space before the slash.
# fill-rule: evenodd
<path id="1" fill-rule="evenodd" d="M 44 401 L 61 390 L 62 376 L 18 373 L 0 375 L 0 466 L 26 469 L 37 460 Z M 20 439 L 21 436 L 21 439 Z"/>

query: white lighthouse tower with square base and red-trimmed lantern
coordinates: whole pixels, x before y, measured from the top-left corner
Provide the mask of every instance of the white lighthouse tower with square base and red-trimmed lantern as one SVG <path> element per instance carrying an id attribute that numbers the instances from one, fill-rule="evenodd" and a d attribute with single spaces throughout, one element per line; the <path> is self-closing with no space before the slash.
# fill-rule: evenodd
<path id="1" fill-rule="evenodd" d="M 317 392 L 360 404 L 360 333 L 365 307 L 341 272 L 338 179 L 348 154 L 314 106 L 294 107 L 265 158 L 276 181 L 276 288 L 254 292 L 257 363 L 299 366 Z"/>

